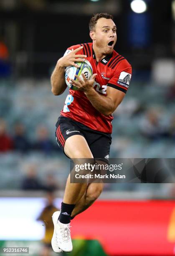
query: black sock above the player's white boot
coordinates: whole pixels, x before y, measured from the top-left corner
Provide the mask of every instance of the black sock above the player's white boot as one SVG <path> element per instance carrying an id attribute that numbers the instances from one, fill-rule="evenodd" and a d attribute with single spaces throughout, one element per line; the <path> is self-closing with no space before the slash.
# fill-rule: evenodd
<path id="1" fill-rule="evenodd" d="M 71 222 L 71 213 L 74 210 L 75 205 L 69 205 L 61 203 L 61 212 L 58 220 L 63 224 L 68 224 Z"/>

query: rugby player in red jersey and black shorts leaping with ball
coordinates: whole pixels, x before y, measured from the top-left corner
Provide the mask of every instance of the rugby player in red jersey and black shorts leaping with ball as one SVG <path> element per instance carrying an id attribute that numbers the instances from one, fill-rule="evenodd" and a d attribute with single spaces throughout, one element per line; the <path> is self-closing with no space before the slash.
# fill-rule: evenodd
<path id="1" fill-rule="evenodd" d="M 65 68 L 78 65 L 75 61 L 87 59 L 93 75 L 87 80 L 76 76 L 65 105 L 56 123 L 56 140 L 70 159 L 109 159 L 112 141 L 112 113 L 122 102 L 131 79 L 132 68 L 116 51 L 116 25 L 112 15 L 95 14 L 90 22 L 92 43 L 69 47 L 57 61 L 51 75 L 52 92 L 61 95 L 66 90 Z M 100 149 L 100 150 L 99 150 Z M 102 161 L 102 160 L 101 160 Z M 70 222 L 99 197 L 103 183 L 70 183 L 70 175 L 61 203 L 61 212 L 54 212 L 53 251 L 72 251 Z"/>

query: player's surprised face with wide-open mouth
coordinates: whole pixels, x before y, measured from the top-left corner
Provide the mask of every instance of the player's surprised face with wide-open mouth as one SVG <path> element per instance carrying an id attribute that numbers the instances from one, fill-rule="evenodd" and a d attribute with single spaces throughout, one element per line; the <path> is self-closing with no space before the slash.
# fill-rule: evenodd
<path id="1" fill-rule="evenodd" d="M 93 33 L 94 44 L 103 54 L 111 54 L 117 41 L 116 25 L 112 19 L 100 18 Z"/>

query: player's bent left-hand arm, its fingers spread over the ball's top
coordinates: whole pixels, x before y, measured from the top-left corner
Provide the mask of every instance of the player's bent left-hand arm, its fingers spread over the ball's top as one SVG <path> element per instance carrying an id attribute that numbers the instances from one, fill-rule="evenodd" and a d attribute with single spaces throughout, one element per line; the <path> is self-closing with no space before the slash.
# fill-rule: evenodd
<path id="1" fill-rule="evenodd" d="M 83 46 L 72 49 L 68 52 L 68 54 L 64 55 L 61 59 L 58 59 L 56 67 L 53 70 L 51 75 L 51 86 L 52 86 L 52 93 L 54 95 L 61 95 L 66 90 L 66 82 L 64 79 L 64 72 L 65 68 L 68 66 L 78 67 L 75 64 L 75 61 L 84 61 L 86 55 L 76 54 L 80 51 Z"/>

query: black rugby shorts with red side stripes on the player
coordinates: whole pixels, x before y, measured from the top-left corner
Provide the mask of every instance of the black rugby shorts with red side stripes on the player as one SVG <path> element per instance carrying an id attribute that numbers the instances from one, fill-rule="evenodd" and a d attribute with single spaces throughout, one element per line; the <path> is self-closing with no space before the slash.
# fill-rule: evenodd
<path id="1" fill-rule="evenodd" d="M 63 152 L 66 139 L 76 134 L 86 139 L 95 159 L 108 161 L 112 141 L 111 134 L 94 131 L 71 118 L 60 116 L 56 123 L 55 136 L 58 146 Z"/>

